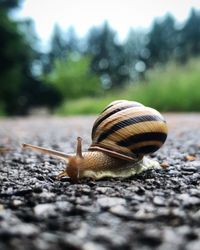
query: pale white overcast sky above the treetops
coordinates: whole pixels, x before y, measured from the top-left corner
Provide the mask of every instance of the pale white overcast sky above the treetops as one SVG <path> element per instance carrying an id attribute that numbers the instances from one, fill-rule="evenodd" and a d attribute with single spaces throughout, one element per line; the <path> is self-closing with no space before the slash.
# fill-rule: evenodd
<path id="1" fill-rule="evenodd" d="M 108 20 L 123 39 L 130 27 L 148 28 L 167 12 L 184 21 L 192 7 L 200 9 L 200 0 L 24 0 L 17 16 L 32 18 L 45 44 L 55 23 L 63 30 L 74 26 L 83 36 L 91 26 Z"/>

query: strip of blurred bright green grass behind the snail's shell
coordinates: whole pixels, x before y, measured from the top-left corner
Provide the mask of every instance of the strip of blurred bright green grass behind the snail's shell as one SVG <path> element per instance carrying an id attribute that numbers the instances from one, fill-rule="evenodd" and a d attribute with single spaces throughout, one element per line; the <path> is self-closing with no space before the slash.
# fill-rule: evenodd
<path id="1" fill-rule="evenodd" d="M 95 114 L 116 99 L 139 101 L 159 111 L 200 111 L 200 59 L 186 65 L 169 63 L 148 72 L 145 81 L 112 91 L 104 97 L 82 98 L 63 103 L 56 113 Z"/>

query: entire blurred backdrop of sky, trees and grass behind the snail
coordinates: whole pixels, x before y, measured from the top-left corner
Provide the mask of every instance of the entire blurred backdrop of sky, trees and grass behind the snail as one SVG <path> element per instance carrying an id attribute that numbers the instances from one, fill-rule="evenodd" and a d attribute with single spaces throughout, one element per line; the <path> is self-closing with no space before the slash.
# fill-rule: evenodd
<path id="1" fill-rule="evenodd" d="M 0 116 L 200 111 L 200 2 L 0 0 Z"/>

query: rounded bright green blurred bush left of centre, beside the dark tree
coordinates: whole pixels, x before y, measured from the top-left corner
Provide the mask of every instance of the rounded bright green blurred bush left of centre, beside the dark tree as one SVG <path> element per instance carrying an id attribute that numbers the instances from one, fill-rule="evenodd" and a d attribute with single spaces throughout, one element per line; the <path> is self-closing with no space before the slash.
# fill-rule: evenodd
<path id="1" fill-rule="evenodd" d="M 89 71 L 90 58 L 71 55 L 68 60 L 55 61 L 53 71 L 46 76 L 63 99 L 101 94 L 100 79 Z"/>

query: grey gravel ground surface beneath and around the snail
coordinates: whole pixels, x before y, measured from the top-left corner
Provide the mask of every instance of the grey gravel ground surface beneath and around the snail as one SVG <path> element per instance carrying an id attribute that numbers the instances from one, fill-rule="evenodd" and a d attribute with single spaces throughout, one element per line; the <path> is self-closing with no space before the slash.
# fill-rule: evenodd
<path id="1" fill-rule="evenodd" d="M 95 117 L 0 120 L 0 249 L 199 250 L 200 115 L 166 114 L 169 136 L 151 157 L 163 169 L 73 183 L 65 167 L 20 144 L 73 152 Z"/>

